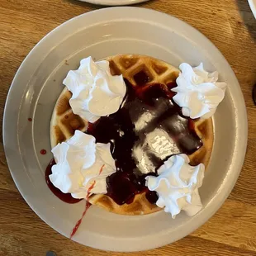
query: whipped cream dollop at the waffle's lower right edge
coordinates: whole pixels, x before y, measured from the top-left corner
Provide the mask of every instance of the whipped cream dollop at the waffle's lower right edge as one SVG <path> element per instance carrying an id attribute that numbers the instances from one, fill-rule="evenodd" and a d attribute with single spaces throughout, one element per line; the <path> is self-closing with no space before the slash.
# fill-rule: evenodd
<path id="1" fill-rule="evenodd" d="M 173 219 L 182 210 L 194 216 L 202 207 L 198 187 L 201 187 L 204 171 L 204 164 L 189 165 L 187 154 L 173 155 L 158 169 L 158 177 L 145 178 L 146 186 L 158 193 L 157 206 L 170 212 Z"/>

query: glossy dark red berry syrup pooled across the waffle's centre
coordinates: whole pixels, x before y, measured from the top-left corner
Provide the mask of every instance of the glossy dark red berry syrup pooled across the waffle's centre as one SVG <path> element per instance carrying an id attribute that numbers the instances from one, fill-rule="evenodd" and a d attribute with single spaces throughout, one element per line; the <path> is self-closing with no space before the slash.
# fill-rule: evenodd
<path id="1" fill-rule="evenodd" d="M 135 79 L 139 86 L 126 80 L 119 111 L 88 126 L 88 134 L 97 142 L 111 143 L 116 173 L 107 178 L 107 196 L 119 205 L 131 203 L 141 192 L 155 203 L 158 197 L 145 186 L 145 177 L 157 175 L 171 155 L 192 154 L 202 145 L 193 121 L 173 102 L 171 88 L 176 83 L 144 85 L 148 81 L 144 73 Z"/>

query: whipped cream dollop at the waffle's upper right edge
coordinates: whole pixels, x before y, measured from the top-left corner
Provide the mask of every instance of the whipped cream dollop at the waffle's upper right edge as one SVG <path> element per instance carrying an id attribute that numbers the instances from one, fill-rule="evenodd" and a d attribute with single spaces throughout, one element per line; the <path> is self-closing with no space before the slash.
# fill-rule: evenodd
<path id="1" fill-rule="evenodd" d="M 172 89 L 177 92 L 174 102 L 182 107 L 184 116 L 192 119 L 211 117 L 225 96 L 226 83 L 217 82 L 218 73 L 206 72 L 202 63 L 196 68 L 183 63 L 179 69 L 178 87 Z"/>

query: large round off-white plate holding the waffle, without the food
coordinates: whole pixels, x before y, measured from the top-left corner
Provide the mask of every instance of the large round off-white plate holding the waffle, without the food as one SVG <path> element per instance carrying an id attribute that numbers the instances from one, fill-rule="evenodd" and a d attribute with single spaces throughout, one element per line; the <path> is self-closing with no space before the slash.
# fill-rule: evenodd
<path id="1" fill-rule="evenodd" d="M 143 32 L 142 32 L 143 31 Z M 12 82 L 4 112 L 3 138 L 12 178 L 42 220 L 69 237 L 84 201 L 69 205 L 45 183 L 50 154 L 49 126 L 55 101 L 69 69 L 89 55 L 151 55 L 178 67 L 182 62 L 218 70 L 229 84 L 214 116 L 215 143 L 200 189 L 203 210 L 175 220 L 160 211 L 148 216 L 119 216 L 92 206 L 73 239 L 114 251 L 153 249 L 196 230 L 228 197 L 239 176 L 247 143 L 244 98 L 230 65 L 211 41 L 177 18 L 135 7 L 88 12 L 57 27 L 31 50 Z M 31 117 L 32 122 L 27 119 Z M 47 154 L 41 155 L 40 149 Z"/>

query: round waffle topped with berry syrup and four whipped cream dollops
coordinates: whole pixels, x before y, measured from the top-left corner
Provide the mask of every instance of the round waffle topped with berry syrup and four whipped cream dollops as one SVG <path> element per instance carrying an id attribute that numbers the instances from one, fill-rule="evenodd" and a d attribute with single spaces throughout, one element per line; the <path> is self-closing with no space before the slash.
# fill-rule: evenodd
<path id="1" fill-rule="evenodd" d="M 117 214 L 197 214 L 226 84 L 202 64 L 179 68 L 145 55 L 82 59 L 50 121 L 50 183 Z"/>

